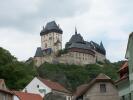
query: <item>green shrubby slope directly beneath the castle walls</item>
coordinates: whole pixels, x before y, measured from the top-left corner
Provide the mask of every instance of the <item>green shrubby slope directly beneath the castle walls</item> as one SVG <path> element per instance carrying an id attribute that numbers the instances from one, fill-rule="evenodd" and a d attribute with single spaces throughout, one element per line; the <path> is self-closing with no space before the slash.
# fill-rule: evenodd
<path id="1" fill-rule="evenodd" d="M 74 91 L 77 86 L 88 83 L 99 73 L 105 73 L 113 80 L 118 78 L 118 66 L 114 66 L 109 61 L 100 64 L 89 64 L 86 66 L 48 64 L 44 63 L 38 68 L 40 77 L 48 78 L 63 84 L 66 88 Z"/>

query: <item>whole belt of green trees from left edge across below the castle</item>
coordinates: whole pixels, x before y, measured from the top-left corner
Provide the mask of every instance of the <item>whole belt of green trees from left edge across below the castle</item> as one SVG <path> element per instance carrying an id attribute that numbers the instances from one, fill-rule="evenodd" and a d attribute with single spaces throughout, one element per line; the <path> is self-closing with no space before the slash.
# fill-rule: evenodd
<path id="1" fill-rule="evenodd" d="M 9 89 L 16 90 L 23 89 L 35 76 L 57 81 L 71 91 L 99 73 L 105 73 L 115 81 L 122 63 L 123 61 L 111 63 L 109 60 L 85 66 L 44 63 L 37 68 L 33 61 L 18 61 L 9 51 L 0 48 L 0 78 L 5 79 Z"/>

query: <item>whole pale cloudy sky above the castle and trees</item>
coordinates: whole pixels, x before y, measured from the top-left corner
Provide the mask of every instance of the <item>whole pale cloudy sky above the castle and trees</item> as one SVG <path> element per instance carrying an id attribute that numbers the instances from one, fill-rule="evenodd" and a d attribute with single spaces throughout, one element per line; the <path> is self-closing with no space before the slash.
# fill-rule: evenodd
<path id="1" fill-rule="evenodd" d="M 55 20 L 63 30 L 63 47 L 75 33 L 103 42 L 107 59 L 125 59 L 133 31 L 133 0 L 0 0 L 0 47 L 18 60 L 33 57 L 40 31 Z"/>

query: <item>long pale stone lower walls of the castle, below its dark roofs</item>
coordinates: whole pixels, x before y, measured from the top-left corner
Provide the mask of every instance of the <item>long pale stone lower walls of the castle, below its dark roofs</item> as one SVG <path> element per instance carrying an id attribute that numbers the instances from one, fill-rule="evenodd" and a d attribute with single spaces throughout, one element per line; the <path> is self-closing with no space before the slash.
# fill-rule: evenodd
<path id="1" fill-rule="evenodd" d="M 59 57 L 56 57 L 53 54 L 46 55 L 44 57 L 35 57 L 36 66 L 40 66 L 44 62 L 48 63 L 64 63 L 64 64 L 75 64 L 75 65 L 85 65 L 85 64 L 94 64 L 97 61 L 104 62 L 106 59 L 104 55 L 96 52 L 96 56 L 91 54 L 79 53 L 79 52 L 68 52 L 67 54 L 62 54 Z"/>

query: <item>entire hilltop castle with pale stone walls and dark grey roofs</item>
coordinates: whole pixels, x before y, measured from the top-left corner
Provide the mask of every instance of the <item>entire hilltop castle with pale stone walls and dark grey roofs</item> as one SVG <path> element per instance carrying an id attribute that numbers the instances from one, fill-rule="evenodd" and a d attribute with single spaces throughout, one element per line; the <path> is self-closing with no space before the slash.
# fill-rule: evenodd
<path id="1" fill-rule="evenodd" d="M 62 29 L 55 21 L 48 22 L 40 32 L 41 47 L 38 47 L 34 56 L 36 66 L 44 62 L 64 64 L 94 64 L 97 61 L 104 62 L 106 50 L 102 44 L 85 41 L 81 34 L 72 35 L 65 48 L 62 49 Z"/>

